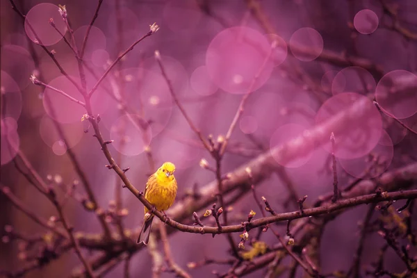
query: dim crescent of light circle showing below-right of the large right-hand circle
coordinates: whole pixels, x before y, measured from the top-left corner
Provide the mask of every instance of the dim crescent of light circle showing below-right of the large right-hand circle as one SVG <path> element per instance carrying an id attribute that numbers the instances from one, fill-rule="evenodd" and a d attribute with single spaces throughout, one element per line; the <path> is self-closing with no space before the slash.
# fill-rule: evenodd
<path id="1" fill-rule="evenodd" d="M 385 172 L 391 165 L 393 156 L 393 142 L 388 133 L 383 130 L 379 144 L 375 145 L 370 154 L 354 159 L 338 159 L 338 162 L 353 177 L 374 178 Z"/>

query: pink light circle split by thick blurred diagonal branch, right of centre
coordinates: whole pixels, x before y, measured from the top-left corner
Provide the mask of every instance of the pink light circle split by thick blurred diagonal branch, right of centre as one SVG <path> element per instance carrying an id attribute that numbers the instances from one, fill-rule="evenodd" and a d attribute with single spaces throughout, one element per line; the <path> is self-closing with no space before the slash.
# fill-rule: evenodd
<path id="1" fill-rule="evenodd" d="M 284 124 L 283 126 L 280 126 L 275 133 L 272 134 L 270 139 L 270 149 L 273 149 L 278 145 L 283 145 L 298 136 L 302 136 L 304 131 L 306 131 L 306 127 L 301 124 Z M 275 152 L 272 152 L 272 157 L 275 161 L 277 161 L 277 163 L 279 163 L 279 165 L 289 168 L 296 168 L 304 165 L 310 160 L 311 156 L 312 153 L 309 152 L 308 154 L 300 155 L 300 157 L 297 157 L 292 161 L 288 161 L 284 158 L 284 156 L 277 155 Z"/>

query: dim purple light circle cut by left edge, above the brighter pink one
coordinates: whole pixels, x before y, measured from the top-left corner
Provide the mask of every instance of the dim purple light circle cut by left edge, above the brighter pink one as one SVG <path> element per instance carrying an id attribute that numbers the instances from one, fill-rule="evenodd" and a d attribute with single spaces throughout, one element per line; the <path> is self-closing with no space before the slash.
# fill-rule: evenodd
<path id="1" fill-rule="evenodd" d="M 22 94 L 12 76 L 3 70 L 0 72 L 0 94 L 3 106 L 1 118 L 13 117 L 18 120 L 22 113 Z"/>

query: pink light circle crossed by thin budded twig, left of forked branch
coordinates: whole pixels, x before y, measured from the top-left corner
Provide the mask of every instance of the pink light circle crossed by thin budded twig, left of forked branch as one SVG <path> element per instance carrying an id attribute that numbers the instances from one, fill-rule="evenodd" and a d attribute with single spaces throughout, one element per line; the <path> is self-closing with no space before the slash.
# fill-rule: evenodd
<path id="1" fill-rule="evenodd" d="M 77 80 L 74 76 L 71 77 L 72 79 Z M 56 79 L 49 82 L 49 85 L 58 90 L 63 90 L 71 97 L 84 101 L 75 85 L 65 76 L 58 76 Z M 98 94 L 98 92 L 96 92 L 96 94 Z M 59 92 L 49 88 L 45 88 L 42 101 L 49 117 L 63 124 L 81 122 L 81 117 L 85 114 L 85 108 L 83 108 L 83 106 L 76 104 Z"/>

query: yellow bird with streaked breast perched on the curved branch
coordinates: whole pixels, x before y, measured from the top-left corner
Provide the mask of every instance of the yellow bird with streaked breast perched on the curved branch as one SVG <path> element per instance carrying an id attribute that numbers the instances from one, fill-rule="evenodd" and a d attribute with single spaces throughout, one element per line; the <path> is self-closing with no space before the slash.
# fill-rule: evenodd
<path id="1" fill-rule="evenodd" d="M 151 175 L 151 177 L 149 177 L 146 183 L 144 193 L 145 199 L 147 199 L 156 210 L 163 211 L 164 214 L 165 211 L 172 206 L 174 199 L 177 196 L 177 180 L 174 177 L 174 172 L 175 165 L 170 162 L 165 162 Z M 147 245 L 149 241 L 154 214 L 149 215 L 148 211 L 149 210 L 145 206 L 145 222 L 143 222 L 142 230 L 140 230 L 136 243 Z"/>

